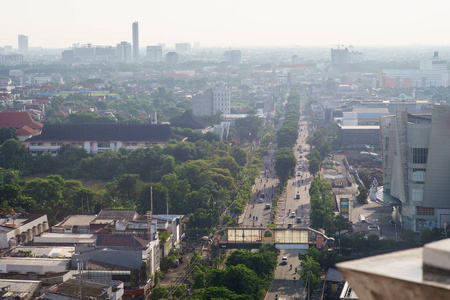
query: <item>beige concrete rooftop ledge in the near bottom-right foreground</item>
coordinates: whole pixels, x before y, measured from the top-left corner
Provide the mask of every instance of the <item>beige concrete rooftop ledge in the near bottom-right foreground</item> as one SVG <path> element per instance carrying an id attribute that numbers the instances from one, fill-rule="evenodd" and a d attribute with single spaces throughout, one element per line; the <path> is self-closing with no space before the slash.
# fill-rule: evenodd
<path id="1" fill-rule="evenodd" d="M 450 239 L 337 264 L 360 299 L 447 299 Z"/>

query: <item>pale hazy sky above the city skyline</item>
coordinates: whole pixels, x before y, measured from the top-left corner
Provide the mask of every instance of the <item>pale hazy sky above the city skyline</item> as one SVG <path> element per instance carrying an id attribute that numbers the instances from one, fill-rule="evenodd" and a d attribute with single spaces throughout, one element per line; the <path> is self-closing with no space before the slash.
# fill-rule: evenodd
<path id="1" fill-rule="evenodd" d="M 201 46 L 447 45 L 450 1 L 4 0 L 0 46 L 132 41 Z"/>

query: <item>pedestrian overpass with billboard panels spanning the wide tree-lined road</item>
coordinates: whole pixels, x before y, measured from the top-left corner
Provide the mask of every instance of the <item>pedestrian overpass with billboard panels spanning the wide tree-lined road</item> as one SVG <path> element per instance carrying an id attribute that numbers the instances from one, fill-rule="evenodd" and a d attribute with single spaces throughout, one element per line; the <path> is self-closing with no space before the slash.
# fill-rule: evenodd
<path id="1" fill-rule="evenodd" d="M 281 227 L 229 227 L 220 239 L 220 248 L 259 248 L 264 244 L 274 244 L 278 249 L 308 249 L 327 239 L 324 233 L 309 228 Z"/>

